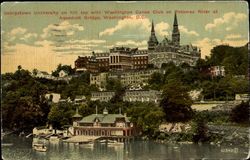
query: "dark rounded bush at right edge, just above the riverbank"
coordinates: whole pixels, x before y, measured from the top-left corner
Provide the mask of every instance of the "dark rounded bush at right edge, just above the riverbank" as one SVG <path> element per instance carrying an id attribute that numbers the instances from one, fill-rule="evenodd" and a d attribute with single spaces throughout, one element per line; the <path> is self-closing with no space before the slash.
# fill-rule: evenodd
<path id="1" fill-rule="evenodd" d="M 231 120 L 236 123 L 249 123 L 249 115 L 250 115 L 250 107 L 249 101 L 241 102 L 241 104 L 237 105 L 232 109 L 231 112 Z"/>

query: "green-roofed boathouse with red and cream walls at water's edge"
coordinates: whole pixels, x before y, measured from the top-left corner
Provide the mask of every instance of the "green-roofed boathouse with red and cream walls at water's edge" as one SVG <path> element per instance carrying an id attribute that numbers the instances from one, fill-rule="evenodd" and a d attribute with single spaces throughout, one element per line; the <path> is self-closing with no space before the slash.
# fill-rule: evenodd
<path id="1" fill-rule="evenodd" d="M 126 114 L 109 114 L 106 108 L 102 114 L 91 114 L 83 118 L 76 111 L 73 116 L 73 128 L 75 136 L 132 137 L 137 135 L 133 123 Z"/>

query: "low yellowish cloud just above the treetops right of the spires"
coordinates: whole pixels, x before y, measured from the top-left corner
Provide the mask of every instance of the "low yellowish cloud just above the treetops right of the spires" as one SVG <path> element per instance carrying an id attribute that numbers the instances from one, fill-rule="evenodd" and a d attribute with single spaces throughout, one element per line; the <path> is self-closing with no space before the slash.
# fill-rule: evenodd
<path id="1" fill-rule="evenodd" d="M 246 39 L 242 39 L 242 40 L 224 39 L 223 40 L 223 39 L 218 39 L 218 38 L 210 39 L 206 37 L 206 38 L 203 38 L 201 40 L 194 42 L 194 45 L 201 48 L 201 57 L 205 58 L 205 56 L 210 56 L 211 49 L 217 45 L 226 44 L 226 45 L 238 47 L 238 46 L 245 45 L 247 42 L 248 41 Z"/>

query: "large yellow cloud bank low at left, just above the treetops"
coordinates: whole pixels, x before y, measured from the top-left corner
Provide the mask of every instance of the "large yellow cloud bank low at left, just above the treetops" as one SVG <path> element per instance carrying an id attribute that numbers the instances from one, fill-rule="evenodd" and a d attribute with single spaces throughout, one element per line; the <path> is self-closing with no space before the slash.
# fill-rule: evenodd
<path id="1" fill-rule="evenodd" d="M 14 72 L 18 65 L 32 71 L 37 68 L 41 71 L 51 72 L 59 63 L 74 66 L 77 55 L 55 54 L 48 41 L 37 42 L 46 47 L 30 46 L 27 44 L 16 44 L 12 54 L 1 54 L 1 71 Z M 27 58 L 28 57 L 28 58 Z"/>

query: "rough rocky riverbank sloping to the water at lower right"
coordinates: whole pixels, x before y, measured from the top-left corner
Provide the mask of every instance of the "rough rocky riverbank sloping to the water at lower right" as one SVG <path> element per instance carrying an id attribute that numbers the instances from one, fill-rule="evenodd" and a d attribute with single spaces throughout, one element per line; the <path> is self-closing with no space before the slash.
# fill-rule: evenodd
<path id="1" fill-rule="evenodd" d="M 233 125 L 215 125 L 210 124 L 206 126 L 206 133 L 202 136 L 202 140 L 196 140 L 195 138 L 200 135 L 196 135 L 192 129 L 180 132 L 155 132 L 153 136 L 143 136 L 143 140 L 152 139 L 158 143 L 180 143 L 180 144 L 192 144 L 192 143 L 204 143 L 211 145 L 227 145 L 227 146 L 249 146 L 249 133 L 250 128 L 248 126 L 233 126 Z M 201 137 L 199 137 L 201 138 Z"/>

